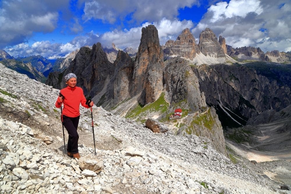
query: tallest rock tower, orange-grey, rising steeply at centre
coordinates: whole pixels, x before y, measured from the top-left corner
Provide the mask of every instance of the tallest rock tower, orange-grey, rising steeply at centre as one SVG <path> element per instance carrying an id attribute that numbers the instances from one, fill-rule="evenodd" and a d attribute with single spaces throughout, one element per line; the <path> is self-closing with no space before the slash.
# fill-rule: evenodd
<path id="1" fill-rule="evenodd" d="M 154 102 L 163 89 L 163 50 L 154 25 L 142 28 L 141 43 L 136 54 L 131 95 L 141 93 L 140 102 Z"/>

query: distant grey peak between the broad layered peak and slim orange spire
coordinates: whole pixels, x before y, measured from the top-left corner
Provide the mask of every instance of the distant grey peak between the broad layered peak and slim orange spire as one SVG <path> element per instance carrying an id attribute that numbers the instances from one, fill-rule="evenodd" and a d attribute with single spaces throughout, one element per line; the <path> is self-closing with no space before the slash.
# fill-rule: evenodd
<path id="1" fill-rule="evenodd" d="M 221 38 L 221 42 L 223 39 Z M 217 37 L 210 28 L 200 33 L 198 48 L 205 56 L 225 57 L 224 48 L 217 41 Z"/>

